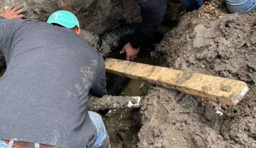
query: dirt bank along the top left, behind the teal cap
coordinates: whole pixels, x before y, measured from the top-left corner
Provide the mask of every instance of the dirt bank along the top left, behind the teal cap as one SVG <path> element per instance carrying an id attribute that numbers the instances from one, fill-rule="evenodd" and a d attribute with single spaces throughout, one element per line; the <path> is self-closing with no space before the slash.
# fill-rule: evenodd
<path id="1" fill-rule="evenodd" d="M 99 34 L 140 20 L 140 9 L 134 0 L 1 0 L 0 12 L 4 6 L 13 5 L 24 6 L 27 18 L 40 21 L 46 21 L 56 10 L 72 11 L 83 29 Z"/>

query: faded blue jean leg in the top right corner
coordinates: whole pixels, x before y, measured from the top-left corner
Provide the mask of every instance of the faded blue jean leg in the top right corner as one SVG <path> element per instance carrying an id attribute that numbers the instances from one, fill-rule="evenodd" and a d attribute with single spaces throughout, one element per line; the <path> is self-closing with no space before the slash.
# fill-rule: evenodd
<path id="1" fill-rule="evenodd" d="M 249 13 L 255 8 L 255 0 L 225 0 L 230 13 Z"/>

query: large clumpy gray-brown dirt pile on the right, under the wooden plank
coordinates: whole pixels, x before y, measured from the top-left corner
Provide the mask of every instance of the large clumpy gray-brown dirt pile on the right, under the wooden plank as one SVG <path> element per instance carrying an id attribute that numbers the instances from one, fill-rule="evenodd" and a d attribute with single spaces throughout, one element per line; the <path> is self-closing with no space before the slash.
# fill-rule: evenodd
<path id="1" fill-rule="evenodd" d="M 160 88 L 151 92 L 154 108 L 142 109 L 141 148 L 256 147 L 256 12 L 227 14 L 223 8 L 217 1 L 186 13 L 151 56 L 158 65 L 245 81 L 249 92 L 236 107 Z M 184 107 L 183 100 L 196 103 Z"/>

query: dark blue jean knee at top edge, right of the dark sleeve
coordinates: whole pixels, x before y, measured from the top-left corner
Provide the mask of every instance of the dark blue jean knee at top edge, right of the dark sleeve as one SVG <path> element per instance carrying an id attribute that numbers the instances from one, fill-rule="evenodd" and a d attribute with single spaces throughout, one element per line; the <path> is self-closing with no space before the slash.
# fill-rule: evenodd
<path id="1" fill-rule="evenodd" d="M 203 0 L 180 0 L 180 2 L 187 11 L 196 10 L 204 4 Z"/>

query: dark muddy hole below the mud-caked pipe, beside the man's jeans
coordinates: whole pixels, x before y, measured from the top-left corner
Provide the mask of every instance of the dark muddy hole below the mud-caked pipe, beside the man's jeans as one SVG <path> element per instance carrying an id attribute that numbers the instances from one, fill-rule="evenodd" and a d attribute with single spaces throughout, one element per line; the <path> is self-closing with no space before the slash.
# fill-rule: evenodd
<path id="1" fill-rule="evenodd" d="M 111 147 L 135 148 L 142 127 L 140 109 L 111 110 L 104 117 Z"/>

